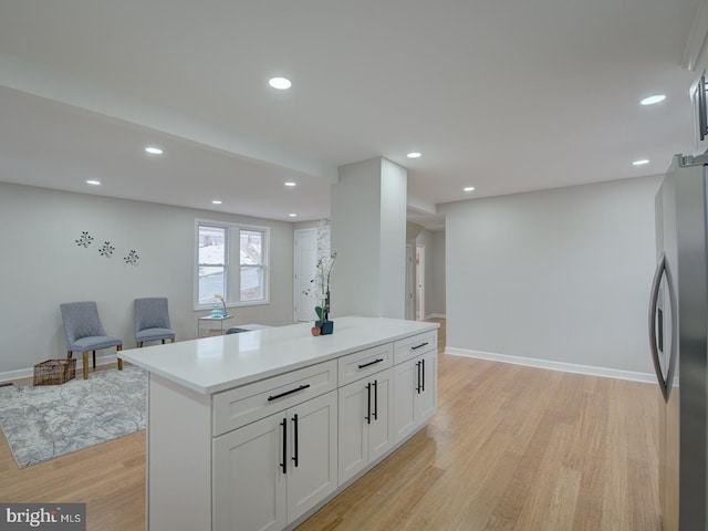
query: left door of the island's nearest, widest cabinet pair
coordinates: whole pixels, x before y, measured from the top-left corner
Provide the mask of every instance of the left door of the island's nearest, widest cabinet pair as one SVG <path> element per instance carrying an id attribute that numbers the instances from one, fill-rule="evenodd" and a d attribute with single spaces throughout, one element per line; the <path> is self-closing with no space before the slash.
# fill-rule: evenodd
<path id="1" fill-rule="evenodd" d="M 272 415 L 214 440 L 216 531 L 285 527 L 284 418 Z"/>

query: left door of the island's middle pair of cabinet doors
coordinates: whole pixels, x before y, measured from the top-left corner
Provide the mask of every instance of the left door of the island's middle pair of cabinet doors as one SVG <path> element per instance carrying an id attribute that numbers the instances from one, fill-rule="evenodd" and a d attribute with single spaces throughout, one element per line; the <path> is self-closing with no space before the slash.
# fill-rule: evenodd
<path id="1" fill-rule="evenodd" d="M 355 476 L 368 464 L 368 441 L 365 430 L 368 379 L 360 379 L 339 391 L 339 477 L 340 485 Z"/>

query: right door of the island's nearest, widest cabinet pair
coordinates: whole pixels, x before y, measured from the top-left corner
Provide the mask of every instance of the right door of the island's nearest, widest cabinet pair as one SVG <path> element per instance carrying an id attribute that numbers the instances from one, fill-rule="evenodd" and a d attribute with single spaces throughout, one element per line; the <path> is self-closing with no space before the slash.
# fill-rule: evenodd
<path id="1" fill-rule="evenodd" d="M 289 522 L 337 488 L 336 395 L 333 391 L 288 409 Z"/>

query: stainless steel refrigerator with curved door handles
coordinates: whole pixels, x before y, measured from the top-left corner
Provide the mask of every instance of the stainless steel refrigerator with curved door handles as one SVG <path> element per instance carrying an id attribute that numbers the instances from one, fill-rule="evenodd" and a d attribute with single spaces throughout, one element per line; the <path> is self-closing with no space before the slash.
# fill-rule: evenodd
<path id="1" fill-rule="evenodd" d="M 656 195 L 649 346 L 665 531 L 708 530 L 708 156 L 676 155 Z"/>

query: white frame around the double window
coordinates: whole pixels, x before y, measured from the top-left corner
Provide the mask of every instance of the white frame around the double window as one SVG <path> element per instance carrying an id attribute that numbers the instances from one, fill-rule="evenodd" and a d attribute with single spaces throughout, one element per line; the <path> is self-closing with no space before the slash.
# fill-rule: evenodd
<path id="1" fill-rule="evenodd" d="M 270 227 L 257 225 L 232 223 L 227 221 L 215 221 L 211 219 L 195 220 L 195 260 L 192 272 L 192 300 L 195 310 L 210 310 L 212 303 L 199 303 L 199 228 L 216 227 L 227 230 L 226 237 L 226 264 L 225 274 L 227 292 L 223 293 L 227 308 L 254 306 L 270 304 Z M 258 301 L 241 301 L 241 230 L 251 230 L 263 235 L 262 247 L 262 270 L 263 270 L 263 299 Z"/>

